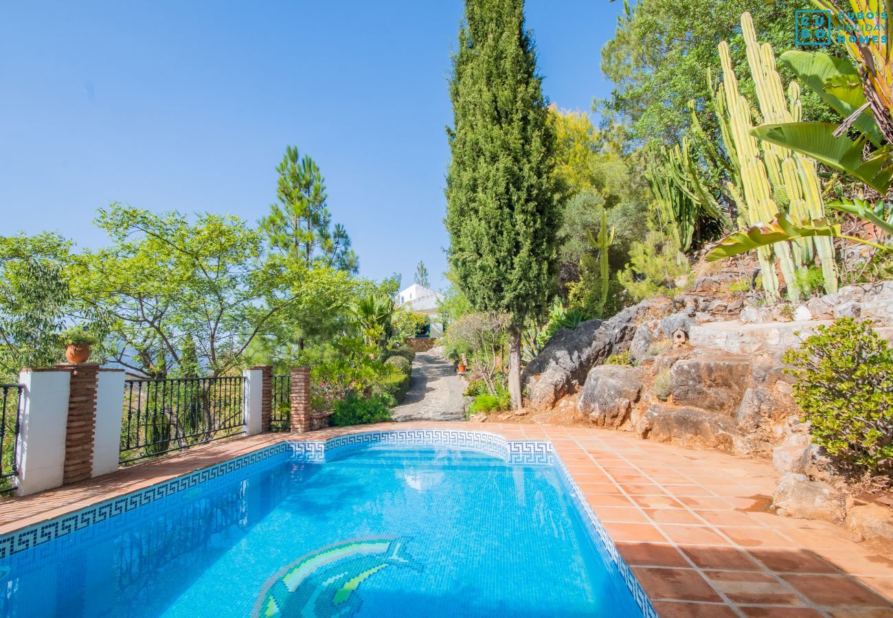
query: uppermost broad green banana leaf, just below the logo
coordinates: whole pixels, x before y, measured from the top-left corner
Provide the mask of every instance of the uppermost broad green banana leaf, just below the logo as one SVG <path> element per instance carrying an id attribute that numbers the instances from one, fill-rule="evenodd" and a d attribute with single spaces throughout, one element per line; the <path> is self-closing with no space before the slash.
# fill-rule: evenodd
<path id="1" fill-rule="evenodd" d="M 793 71 L 800 81 L 843 118 L 849 118 L 865 104 L 862 79 L 847 58 L 835 58 L 822 52 L 790 50 L 779 56 L 779 63 Z M 883 134 L 870 111 L 861 113 L 853 126 L 874 146 L 880 147 L 883 143 Z"/>

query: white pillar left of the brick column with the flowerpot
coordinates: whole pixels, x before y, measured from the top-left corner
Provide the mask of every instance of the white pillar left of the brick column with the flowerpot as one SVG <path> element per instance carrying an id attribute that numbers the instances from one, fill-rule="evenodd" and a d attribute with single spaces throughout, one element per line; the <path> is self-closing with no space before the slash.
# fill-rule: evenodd
<path id="1" fill-rule="evenodd" d="M 19 374 L 21 426 L 16 459 L 18 496 L 59 487 L 65 464 L 65 433 L 71 372 L 25 369 Z"/>

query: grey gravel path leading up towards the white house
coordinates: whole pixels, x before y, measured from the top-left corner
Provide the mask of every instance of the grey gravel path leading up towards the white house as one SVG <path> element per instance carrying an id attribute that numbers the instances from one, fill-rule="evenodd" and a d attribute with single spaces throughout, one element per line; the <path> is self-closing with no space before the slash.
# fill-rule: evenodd
<path id="1" fill-rule="evenodd" d="M 464 382 L 453 363 L 433 352 L 420 352 L 413 362 L 413 381 L 403 403 L 391 410 L 397 422 L 461 421 Z"/>

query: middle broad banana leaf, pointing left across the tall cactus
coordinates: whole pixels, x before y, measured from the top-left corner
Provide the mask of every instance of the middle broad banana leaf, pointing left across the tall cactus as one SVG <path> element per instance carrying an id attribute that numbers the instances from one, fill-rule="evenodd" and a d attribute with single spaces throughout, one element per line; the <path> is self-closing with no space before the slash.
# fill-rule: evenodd
<path id="1" fill-rule="evenodd" d="M 835 129 L 837 125 L 831 122 L 786 122 L 764 124 L 751 133 L 756 138 L 811 156 L 886 195 L 893 170 L 889 145 L 875 151 L 871 159 L 863 161 L 863 139 L 853 141 L 846 135 L 835 138 Z"/>

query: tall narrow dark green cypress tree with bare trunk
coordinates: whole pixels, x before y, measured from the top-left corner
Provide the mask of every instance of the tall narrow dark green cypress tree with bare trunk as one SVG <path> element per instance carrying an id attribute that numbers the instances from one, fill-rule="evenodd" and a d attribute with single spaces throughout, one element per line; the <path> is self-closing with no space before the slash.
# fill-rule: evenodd
<path id="1" fill-rule="evenodd" d="M 447 129 L 449 261 L 478 311 L 512 317 L 509 393 L 522 405 L 521 330 L 547 310 L 557 272 L 555 137 L 523 0 L 466 0 Z"/>

